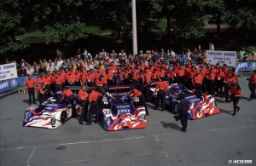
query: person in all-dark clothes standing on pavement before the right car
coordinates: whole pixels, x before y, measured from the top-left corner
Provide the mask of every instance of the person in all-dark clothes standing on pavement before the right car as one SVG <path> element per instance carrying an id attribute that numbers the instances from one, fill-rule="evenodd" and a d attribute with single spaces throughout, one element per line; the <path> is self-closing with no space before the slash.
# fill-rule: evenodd
<path id="1" fill-rule="evenodd" d="M 187 125 L 188 125 L 188 111 L 189 111 L 189 101 L 184 100 L 185 95 L 180 94 L 180 102 L 177 104 L 177 112 L 180 117 L 180 122 L 183 126 L 182 131 L 187 131 Z"/>

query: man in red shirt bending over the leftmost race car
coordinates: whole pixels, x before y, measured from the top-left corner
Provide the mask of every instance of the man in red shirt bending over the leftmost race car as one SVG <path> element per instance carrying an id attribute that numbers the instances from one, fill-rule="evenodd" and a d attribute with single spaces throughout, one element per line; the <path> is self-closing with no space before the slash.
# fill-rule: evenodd
<path id="1" fill-rule="evenodd" d="M 73 92 L 70 89 L 67 89 L 67 87 L 64 88 L 63 90 L 63 96 L 62 99 L 60 100 L 60 102 L 64 99 L 67 99 L 70 104 L 72 105 L 72 117 L 77 117 L 77 109 L 75 106 L 75 100 L 77 100 L 77 96 L 75 94 L 73 94 Z"/>

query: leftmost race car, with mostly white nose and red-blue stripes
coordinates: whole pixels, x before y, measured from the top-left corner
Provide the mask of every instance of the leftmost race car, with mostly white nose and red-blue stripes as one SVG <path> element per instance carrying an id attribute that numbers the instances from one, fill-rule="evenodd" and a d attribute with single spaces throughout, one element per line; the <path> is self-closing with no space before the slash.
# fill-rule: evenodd
<path id="1" fill-rule="evenodd" d="M 23 126 L 56 129 L 72 117 L 72 106 L 67 101 L 59 103 L 63 93 L 56 92 L 41 105 L 29 106 L 26 109 Z M 76 111 L 81 112 L 78 103 L 75 104 Z"/>

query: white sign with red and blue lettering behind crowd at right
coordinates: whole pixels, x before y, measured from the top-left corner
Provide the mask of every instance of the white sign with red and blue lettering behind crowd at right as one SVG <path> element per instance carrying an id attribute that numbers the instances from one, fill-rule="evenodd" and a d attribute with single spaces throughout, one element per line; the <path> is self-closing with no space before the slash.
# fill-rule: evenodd
<path id="1" fill-rule="evenodd" d="M 236 51 L 207 51 L 207 63 L 220 66 L 236 66 Z"/>

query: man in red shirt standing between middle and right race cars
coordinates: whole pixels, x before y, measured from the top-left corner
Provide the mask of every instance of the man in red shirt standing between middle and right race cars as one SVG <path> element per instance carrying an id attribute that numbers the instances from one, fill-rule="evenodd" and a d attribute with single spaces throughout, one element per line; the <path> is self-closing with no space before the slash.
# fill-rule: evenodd
<path id="1" fill-rule="evenodd" d="M 168 83 L 166 83 L 166 78 L 161 77 L 160 82 L 156 84 L 156 89 L 159 89 L 157 92 L 156 102 L 154 106 L 154 110 L 157 110 L 160 106 L 160 103 L 162 105 L 162 112 L 165 110 L 165 100 L 166 100 L 166 94 L 167 90 L 169 89 Z"/>

